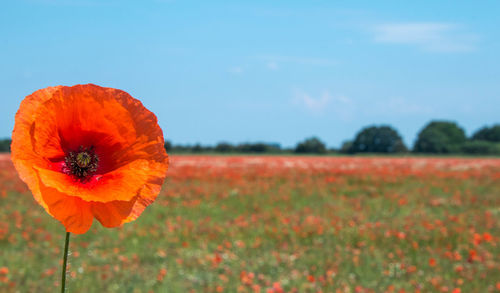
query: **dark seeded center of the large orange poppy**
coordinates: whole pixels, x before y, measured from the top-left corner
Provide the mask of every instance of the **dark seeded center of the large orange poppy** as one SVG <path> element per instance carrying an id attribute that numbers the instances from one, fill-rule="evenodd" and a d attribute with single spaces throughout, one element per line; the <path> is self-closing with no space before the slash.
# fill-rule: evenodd
<path id="1" fill-rule="evenodd" d="M 69 152 L 64 158 L 66 163 L 63 172 L 84 182 L 90 179 L 99 166 L 99 157 L 94 151 L 94 147 L 84 148 L 80 146 L 78 151 Z"/>

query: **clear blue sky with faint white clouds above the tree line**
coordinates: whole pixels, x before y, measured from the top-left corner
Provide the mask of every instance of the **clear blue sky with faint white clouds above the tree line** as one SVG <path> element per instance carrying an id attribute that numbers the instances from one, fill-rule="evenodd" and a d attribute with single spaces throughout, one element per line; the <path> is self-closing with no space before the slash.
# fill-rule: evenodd
<path id="1" fill-rule="evenodd" d="M 390 124 L 500 122 L 499 1 L 16 0 L 0 10 L 0 136 L 19 103 L 95 83 L 174 143 L 330 147 Z"/>

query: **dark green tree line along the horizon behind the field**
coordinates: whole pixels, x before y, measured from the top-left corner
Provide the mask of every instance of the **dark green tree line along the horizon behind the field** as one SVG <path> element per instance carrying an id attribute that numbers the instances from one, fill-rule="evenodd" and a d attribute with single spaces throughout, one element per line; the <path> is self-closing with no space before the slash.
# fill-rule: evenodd
<path id="1" fill-rule="evenodd" d="M 0 152 L 10 151 L 10 139 L 0 139 Z M 299 142 L 293 148 L 282 148 L 278 143 L 220 142 L 215 146 L 174 145 L 165 142 L 167 152 L 173 153 L 254 153 L 254 154 L 359 154 L 359 153 L 422 153 L 500 155 L 500 124 L 485 126 L 470 137 L 462 127 L 451 121 L 431 121 L 418 134 L 410 149 L 396 129 L 389 125 L 371 125 L 362 128 L 352 140 L 338 149 L 328 149 L 317 137 Z"/>

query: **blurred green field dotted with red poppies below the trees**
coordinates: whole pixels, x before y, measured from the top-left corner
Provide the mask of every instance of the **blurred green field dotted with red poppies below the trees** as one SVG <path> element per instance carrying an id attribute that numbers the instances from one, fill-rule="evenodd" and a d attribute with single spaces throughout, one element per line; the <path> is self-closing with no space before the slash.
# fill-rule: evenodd
<path id="1" fill-rule="evenodd" d="M 180 156 L 68 292 L 499 292 L 500 159 Z M 65 230 L 0 157 L 0 292 L 56 292 Z"/>

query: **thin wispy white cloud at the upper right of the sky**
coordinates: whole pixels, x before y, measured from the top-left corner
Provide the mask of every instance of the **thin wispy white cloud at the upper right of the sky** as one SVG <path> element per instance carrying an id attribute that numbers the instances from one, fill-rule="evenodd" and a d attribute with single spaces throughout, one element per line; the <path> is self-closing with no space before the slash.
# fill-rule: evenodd
<path id="1" fill-rule="evenodd" d="M 379 43 L 414 45 L 425 51 L 468 52 L 476 49 L 478 37 L 452 23 L 407 22 L 380 24 L 371 28 Z"/>

